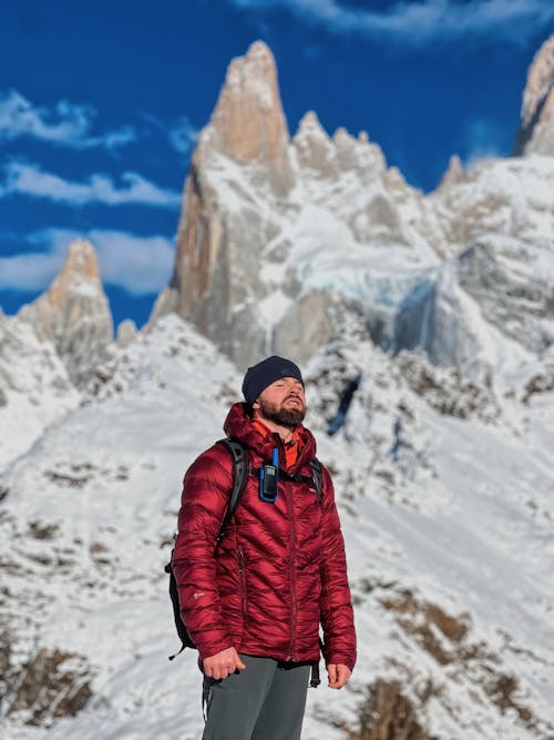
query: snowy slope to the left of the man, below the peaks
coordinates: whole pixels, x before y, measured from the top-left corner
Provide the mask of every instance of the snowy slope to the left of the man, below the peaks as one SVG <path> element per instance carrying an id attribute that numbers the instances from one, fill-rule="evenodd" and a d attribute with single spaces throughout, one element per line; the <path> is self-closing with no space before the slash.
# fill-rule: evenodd
<path id="1" fill-rule="evenodd" d="M 49 737 L 176 738 L 183 722 L 199 726 L 194 659 L 167 661 L 177 638 L 163 566 L 183 473 L 222 436 L 236 372 L 175 317 L 120 364 L 105 401 L 68 415 L 2 479 L 2 566 L 14 596 L 2 621 L 14 629 L 21 611 L 29 618 L 12 635 L 14 660 L 38 645 L 61 648 L 84 656 L 93 676 L 82 719 Z M 184 718 L 183 690 L 194 696 Z"/>

